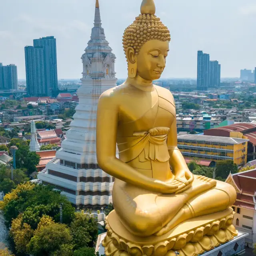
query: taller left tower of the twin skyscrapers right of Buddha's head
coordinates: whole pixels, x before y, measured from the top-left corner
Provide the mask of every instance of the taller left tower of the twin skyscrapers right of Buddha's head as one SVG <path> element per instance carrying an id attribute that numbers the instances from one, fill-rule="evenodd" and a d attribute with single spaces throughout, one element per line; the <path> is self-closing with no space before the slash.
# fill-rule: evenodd
<path id="1" fill-rule="evenodd" d="M 207 91 L 209 86 L 210 55 L 197 52 L 197 90 Z"/>

